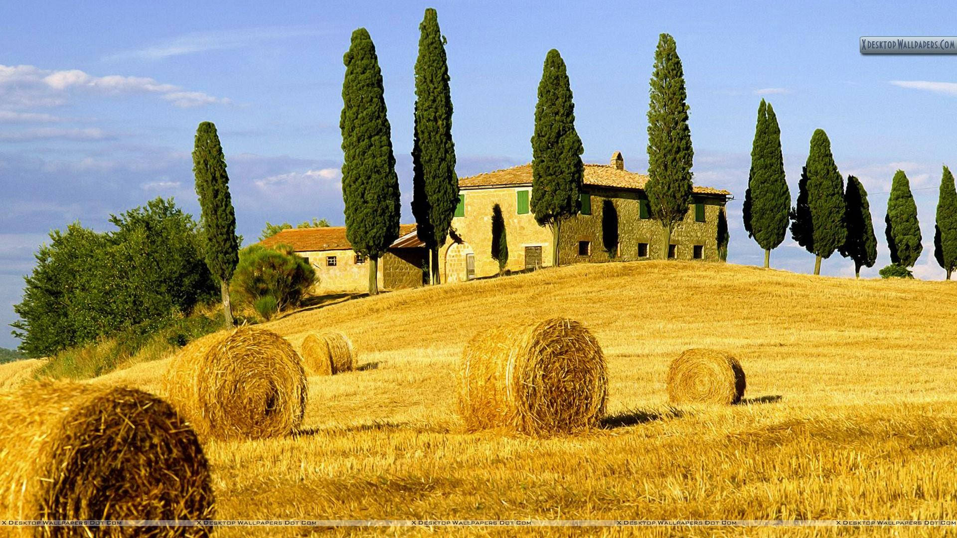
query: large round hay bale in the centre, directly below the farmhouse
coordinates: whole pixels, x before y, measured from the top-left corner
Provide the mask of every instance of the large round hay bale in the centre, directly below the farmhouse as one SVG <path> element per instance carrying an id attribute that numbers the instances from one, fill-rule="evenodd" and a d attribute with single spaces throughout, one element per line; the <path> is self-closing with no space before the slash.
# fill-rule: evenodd
<path id="1" fill-rule="evenodd" d="M 571 433 L 605 414 L 605 355 L 584 325 L 564 318 L 502 325 L 466 345 L 458 412 L 469 430 Z"/>

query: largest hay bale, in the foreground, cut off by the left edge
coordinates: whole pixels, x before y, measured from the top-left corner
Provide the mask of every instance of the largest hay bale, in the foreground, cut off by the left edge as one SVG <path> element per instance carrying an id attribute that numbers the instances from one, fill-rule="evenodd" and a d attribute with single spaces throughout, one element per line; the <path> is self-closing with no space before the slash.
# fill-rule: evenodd
<path id="1" fill-rule="evenodd" d="M 0 518 L 211 519 L 203 449 L 186 420 L 147 392 L 41 382 L 0 395 Z M 129 536 L 124 527 L 22 527 L 23 534 Z M 210 528 L 150 529 L 208 536 Z M 89 532 L 92 532 L 90 534 Z"/>

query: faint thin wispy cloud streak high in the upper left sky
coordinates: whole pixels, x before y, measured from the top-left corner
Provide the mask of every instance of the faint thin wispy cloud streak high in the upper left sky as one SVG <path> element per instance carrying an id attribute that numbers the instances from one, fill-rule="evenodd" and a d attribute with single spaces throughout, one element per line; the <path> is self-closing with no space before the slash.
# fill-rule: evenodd
<path id="1" fill-rule="evenodd" d="M 113 56 L 106 56 L 103 59 L 163 59 L 170 56 L 192 55 L 207 51 L 240 49 L 263 41 L 289 39 L 320 33 L 318 29 L 301 26 L 274 26 L 219 32 L 197 32 L 178 35 L 143 49 L 123 51 Z"/>

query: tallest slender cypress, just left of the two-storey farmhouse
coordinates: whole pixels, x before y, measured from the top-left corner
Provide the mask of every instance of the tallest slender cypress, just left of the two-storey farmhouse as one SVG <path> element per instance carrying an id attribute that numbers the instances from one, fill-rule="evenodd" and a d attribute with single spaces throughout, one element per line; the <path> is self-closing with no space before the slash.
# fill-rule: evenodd
<path id="1" fill-rule="evenodd" d="M 412 214 L 415 233 L 432 252 L 432 282 L 439 281 L 438 248 L 445 243 L 458 204 L 456 145 L 445 37 L 435 10 L 419 25 L 415 61 L 415 134 L 412 139 Z"/>

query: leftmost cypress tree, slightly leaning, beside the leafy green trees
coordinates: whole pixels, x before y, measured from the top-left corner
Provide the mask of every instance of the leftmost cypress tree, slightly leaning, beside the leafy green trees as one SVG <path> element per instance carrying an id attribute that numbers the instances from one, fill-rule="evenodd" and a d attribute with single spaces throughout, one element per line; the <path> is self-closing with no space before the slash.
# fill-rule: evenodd
<path id="1" fill-rule="evenodd" d="M 230 304 L 230 280 L 239 263 L 239 240 L 236 237 L 236 216 L 230 196 L 230 176 L 226 158 L 219 144 L 216 126 L 200 123 L 192 150 L 192 171 L 196 177 L 196 194 L 202 209 L 204 255 L 212 275 L 219 280 L 226 323 L 233 325 Z"/>

